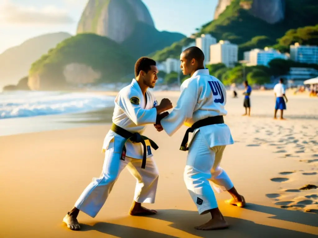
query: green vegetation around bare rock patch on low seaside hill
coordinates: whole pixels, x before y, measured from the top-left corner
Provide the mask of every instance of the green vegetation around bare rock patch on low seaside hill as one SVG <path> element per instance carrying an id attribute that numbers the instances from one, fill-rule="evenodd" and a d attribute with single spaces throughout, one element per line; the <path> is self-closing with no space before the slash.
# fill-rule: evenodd
<path id="1" fill-rule="evenodd" d="M 110 83 L 130 74 L 135 60 L 122 46 L 107 37 L 78 34 L 62 41 L 34 62 L 29 75 L 39 75 L 40 85 L 44 87 L 66 87 L 63 69 L 69 63 L 90 66 L 100 72 L 99 83 Z"/>

